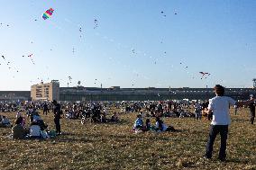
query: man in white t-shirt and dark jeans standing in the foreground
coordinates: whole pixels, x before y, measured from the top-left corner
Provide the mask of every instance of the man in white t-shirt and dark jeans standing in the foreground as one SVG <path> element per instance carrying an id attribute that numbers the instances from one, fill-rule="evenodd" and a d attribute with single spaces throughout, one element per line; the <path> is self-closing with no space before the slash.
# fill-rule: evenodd
<path id="1" fill-rule="evenodd" d="M 215 97 L 209 100 L 209 105 L 207 108 L 208 114 L 213 114 L 213 120 L 211 122 L 211 128 L 209 131 L 208 142 L 206 145 L 206 158 L 212 158 L 213 147 L 215 138 L 218 133 L 221 135 L 221 147 L 219 151 L 218 159 L 220 161 L 225 161 L 226 158 L 226 140 L 228 134 L 228 125 L 231 123 L 229 115 L 230 105 L 248 105 L 253 99 L 246 102 L 236 102 L 233 98 L 224 96 L 224 86 L 215 85 Z"/>

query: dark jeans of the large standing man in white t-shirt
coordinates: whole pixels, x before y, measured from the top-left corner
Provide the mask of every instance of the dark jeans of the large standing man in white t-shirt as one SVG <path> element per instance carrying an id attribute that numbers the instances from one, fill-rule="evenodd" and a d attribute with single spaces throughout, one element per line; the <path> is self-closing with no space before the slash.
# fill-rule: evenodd
<path id="1" fill-rule="evenodd" d="M 211 158 L 213 155 L 213 148 L 215 143 L 215 138 L 217 134 L 221 135 L 221 148 L 219 151 L 219 159 L 224 160 L 226 157 L 225 149 L 226 149 L 226 139 L 228 133 L 228 125 L 212 125 L 209 132 L 208 142 L 206 145 L 206 157 Z"/>

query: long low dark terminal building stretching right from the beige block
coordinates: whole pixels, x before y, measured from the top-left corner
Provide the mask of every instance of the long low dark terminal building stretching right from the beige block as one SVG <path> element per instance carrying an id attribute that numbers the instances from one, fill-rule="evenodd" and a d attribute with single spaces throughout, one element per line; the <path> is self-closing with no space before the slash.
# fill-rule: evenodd
<path id="1" fill-rule="evenodd" d="M 236 100 L 246 100 L 256 94 L 253 88 L 226 88 L 225 94 Z M 61 101 L 162 101 L 162 100 L 208 100 L 215 96 L 213 88 L 96 88 L 60 87 Z"/>

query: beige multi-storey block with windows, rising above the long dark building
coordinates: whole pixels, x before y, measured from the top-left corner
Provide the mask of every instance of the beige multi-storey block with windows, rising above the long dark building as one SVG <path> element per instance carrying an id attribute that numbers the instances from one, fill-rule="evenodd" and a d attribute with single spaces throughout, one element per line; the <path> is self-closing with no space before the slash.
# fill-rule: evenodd
<path id="1" fill-rule="evenodd" d="M 32 85 L 31 87 L 32 101 L 38 100 L 57 100 L 59 101 L 59 81 L 51 80 L 50 83 L 39 85 Z"/>

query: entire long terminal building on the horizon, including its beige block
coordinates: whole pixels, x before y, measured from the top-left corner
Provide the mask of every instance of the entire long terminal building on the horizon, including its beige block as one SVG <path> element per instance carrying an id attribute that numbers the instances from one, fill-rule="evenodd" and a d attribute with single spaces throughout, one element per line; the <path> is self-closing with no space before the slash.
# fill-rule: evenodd
<path id="1" fill-rule="evenodd" d="M 225 95 L 235 100 L 247 100 L 256 94 L 256 88 L 225 88 Z M 58 80 L 32 85 L 31 91 L 0 91 L 0 101 L 162 101 L 208 100 L 215 96 L 213 88 L 121 88 L 59 87 Z"/>

